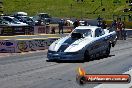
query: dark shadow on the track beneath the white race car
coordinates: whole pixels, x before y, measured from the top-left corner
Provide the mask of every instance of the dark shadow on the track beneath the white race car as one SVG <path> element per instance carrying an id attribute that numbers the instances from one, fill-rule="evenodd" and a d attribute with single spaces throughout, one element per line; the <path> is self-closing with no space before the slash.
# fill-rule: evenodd
<path id="1" fill-rule="evenodd" d="M 115 55 L 109 55 L 108 57 L 113 57 Z M 90 59 L 90 60 L 46 60 L 46 62 L 56 62 L 56 63 L 85 63 L 85 62 L 90 62 L 90 61 L 94 61 L 94 60 L 101 60 L 104 58 L 108 58 L 108 57 L 99 57 L 99 58 L 94 58 L 94 59 Z"/>

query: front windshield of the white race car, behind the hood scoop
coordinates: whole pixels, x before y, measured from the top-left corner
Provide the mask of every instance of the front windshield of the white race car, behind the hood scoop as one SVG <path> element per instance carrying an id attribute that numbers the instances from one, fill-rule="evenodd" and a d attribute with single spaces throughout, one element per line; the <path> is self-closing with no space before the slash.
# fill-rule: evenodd
<path id="1" fill-rule="evenodd" d="M 83 35 L 83 37 L 92 35 L 90 29 L 75 29 L 72 33 L 81 33 Z"/>

